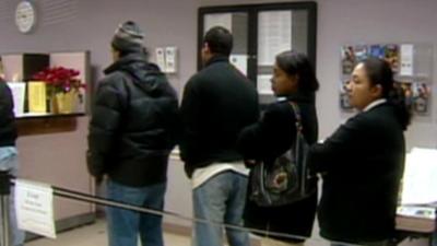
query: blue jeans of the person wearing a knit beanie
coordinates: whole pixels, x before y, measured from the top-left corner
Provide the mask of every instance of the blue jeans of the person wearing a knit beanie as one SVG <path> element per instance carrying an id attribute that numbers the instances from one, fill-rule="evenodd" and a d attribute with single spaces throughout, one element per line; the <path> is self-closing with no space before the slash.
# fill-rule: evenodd
<path id="1" fill-rule="evenodd" d="M 108 180 L 107 198 L 147 209 L 164 209 L 166 184 L 129 187 Z M 142 246 L 163 246 L 161 215 L 138 213 L 107 207 L 109 246 L 137 246 L 140 234 Z"/>

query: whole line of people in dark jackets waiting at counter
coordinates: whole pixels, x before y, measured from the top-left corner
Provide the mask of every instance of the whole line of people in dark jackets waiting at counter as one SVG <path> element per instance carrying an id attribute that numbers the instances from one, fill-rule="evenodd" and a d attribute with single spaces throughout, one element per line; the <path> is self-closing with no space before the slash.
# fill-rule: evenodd
<path id="1" fill-rule="evenodd" d="M 231 246 L 249 246 L 249 232 L 238 226 L 256 230 L 261 245 L 303 245 L 316 215 L 321 236 L 332 245 L 390 245 L 411 116 L 386 61 L 356 65 L 346 90 L 357 114 L 317 142 L 319 80 L 305 55 L 276 55 L 271 83 L 277 101 L 260 110 L 253 83 L 229 63 L 233 35 L 212 27 L 202 40 L 203 68 L 186 83 L 179 106 L 143 42 L 137 23 L 117 27 L 110 40 L 114 62 L 94 96 L 87 166 L 97 183 L 106 180 L 108 199 L 163 210 L 169 154 L 179 145 L 193 214 L 212 222 L 193 224 L 196 246 L 222 246 L 224 235 Z M 0 168 L 15 172 L 16 132 L 3 84 Z M 298 130 L 309 145 L 305 157 L 315 192 L 287 204 L 257 203 L 255 166 L 273 165 L 296 144 Z M 107 208 L 106 216 L 110 246 L 135 246 L 138 237 L 143 246 L 164 245 L 160 215 Z M 235 227 L 223 230 L 223 223 Z M 15 232 L 14 245 L 22 245 Z"/>

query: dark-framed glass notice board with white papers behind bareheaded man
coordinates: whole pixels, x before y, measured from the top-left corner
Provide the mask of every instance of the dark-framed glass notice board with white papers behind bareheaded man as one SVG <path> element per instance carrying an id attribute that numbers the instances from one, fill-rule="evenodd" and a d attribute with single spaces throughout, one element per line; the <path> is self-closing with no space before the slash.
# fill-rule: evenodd
<path id="1" fill-rule="evenodd" d="M 234 37 L 231 62 L 256 83 L 261 105 L 275 99 L 270 80 L 277 54 L 303 52 L 316 66 L 316 2 L 206 7 L 199 9 L 198 19 L 198 68 L 204 34 L 213 26 L 226 27 Z"/>

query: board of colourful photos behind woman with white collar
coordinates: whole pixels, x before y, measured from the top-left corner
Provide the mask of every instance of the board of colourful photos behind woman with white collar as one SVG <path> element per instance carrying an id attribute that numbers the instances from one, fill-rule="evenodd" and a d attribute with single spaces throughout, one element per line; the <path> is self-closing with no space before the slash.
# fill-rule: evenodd
<path id="1" fill-rule="evenodd" d="M 349 102 L 347 84 L 354 67 L 368 57 L 387 60 L 393 71 L 395 86 L 402 89 L 406 106 L 414 115 L 427 117 L 432 113 L 433 46 L 429 44 L 391 43 L 355 44 L 341 47 L 340 108 L 353 112 Z"/>

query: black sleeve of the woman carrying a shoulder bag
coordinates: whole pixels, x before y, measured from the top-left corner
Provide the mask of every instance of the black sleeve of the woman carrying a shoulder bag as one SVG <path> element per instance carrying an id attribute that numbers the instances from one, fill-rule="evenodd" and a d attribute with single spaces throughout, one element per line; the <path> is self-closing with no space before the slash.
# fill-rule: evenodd
<path id="1" fill-rule="evenodd" d="M 275 157 L 292 143 L 295 131 L 290 114 L 277 105 L 270 106 L 258 122 L 240 132 L 237 148 L 246 160 Z"/>

